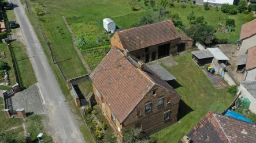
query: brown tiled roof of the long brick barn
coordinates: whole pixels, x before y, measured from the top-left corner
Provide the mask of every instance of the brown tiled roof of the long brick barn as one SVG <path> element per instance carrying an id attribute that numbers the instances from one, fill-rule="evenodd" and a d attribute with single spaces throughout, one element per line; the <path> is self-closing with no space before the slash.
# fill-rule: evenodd
<path id="1" fill-rule="evenodd" d="M 117 32 L 124 49 L 135 51 L 180 38 L 171 20 Z"/>

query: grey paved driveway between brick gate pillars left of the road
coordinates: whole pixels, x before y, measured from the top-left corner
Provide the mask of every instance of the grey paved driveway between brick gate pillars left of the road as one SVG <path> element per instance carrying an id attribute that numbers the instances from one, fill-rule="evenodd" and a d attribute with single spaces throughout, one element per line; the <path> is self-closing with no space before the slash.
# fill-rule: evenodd
<path id="1" fill-rule="evenodd" d="M 12 98 L 14 110 L 24 108 L 26 113 L 43 114 L 42 99 L 36 85 L 17 92 Z"/>

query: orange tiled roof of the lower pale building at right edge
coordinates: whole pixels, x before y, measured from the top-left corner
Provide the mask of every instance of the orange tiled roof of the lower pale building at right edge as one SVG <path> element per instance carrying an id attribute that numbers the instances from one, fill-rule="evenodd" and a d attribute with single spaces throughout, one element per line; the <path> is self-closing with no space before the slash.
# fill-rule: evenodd
<path id="1" fill-rule="evenodd" d="M 247 52 L 246 70 L 253 68 L 256 68 L 256 46 L 249 48 Z"/>

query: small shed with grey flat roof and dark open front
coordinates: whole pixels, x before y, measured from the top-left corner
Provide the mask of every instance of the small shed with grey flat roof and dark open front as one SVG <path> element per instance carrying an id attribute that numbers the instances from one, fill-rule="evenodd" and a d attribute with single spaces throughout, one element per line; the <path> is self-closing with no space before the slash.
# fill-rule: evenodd
<path id="1" fill-rule="evenodd" d="M 193 51 L 191 53 L 193 54 L 192 59 L 198 65 L 210 64 L 213 61 L 213 55 L 207 49 L 201 51 Z"/>

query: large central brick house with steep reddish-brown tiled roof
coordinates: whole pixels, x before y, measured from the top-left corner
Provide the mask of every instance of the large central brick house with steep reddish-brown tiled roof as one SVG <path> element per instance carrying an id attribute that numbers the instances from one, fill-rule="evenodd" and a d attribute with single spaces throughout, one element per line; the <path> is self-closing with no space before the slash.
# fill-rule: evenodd
<path id="1" fill-rule="evenodd" d="M 126 50 L 110 49 L 90 78 L 98 105 L 120 137 L 131 127 L 151 134 L 177 121 L 181 96 Z"/>

